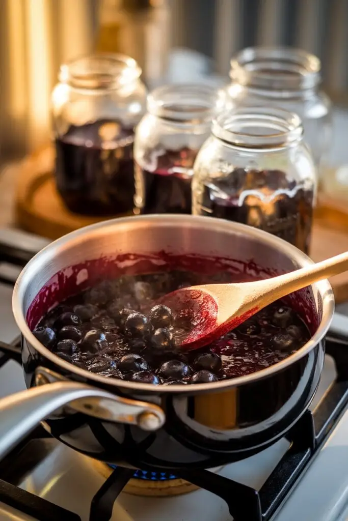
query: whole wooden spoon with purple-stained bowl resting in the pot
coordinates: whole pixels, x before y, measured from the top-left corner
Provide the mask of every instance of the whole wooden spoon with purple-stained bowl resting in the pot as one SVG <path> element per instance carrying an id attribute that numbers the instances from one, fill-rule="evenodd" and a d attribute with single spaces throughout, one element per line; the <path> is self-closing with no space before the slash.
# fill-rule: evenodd
<path id="1" fill-rule="evenodd" d="M 164 295 L 161 303 L 186 321 L 179 342 L 183 350 L 209 344 L 260 309 L 313 282 L 348 270 L 348 252 L 270 279 L 231 284 L 203 284 Z"/>

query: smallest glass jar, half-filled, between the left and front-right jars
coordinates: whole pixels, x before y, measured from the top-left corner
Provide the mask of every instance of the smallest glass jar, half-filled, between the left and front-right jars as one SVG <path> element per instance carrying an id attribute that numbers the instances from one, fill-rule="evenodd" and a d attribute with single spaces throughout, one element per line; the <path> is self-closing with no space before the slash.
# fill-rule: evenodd
<path id="1" fill-rule="evenodd" d="M 215 91 L 205 85 L 167 85 L 148 96 L 134 142 L 137 213 L 191 213 L 192 167 L 214 108 Z"/>

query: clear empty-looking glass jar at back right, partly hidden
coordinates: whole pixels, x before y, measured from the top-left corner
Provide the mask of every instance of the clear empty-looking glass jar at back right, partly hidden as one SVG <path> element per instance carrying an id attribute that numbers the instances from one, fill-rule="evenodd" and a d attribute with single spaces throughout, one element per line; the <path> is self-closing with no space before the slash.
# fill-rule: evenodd
<path id="1" fill-rule="evenodd" d="M 219 92 L 227 110 L 273 106 L 297 114 L 316 165 L 325 163 L 331 139 L 331 103 L 320 90 L 319 58 L 291 47 L 250 47 L 231 60 L 231 83 Z"/>

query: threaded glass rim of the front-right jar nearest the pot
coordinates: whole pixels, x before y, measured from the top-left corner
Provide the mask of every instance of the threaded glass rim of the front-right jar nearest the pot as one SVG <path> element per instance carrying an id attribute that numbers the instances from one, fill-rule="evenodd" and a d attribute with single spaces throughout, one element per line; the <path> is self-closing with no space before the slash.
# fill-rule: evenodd
<path id="1" fill-rule="evenodd" d="M 301 118 L 281 108 L 243 107 L 220 114 L 212 133 L 229 145 L 243 148 L 282 148 L 302 140 Z"/>

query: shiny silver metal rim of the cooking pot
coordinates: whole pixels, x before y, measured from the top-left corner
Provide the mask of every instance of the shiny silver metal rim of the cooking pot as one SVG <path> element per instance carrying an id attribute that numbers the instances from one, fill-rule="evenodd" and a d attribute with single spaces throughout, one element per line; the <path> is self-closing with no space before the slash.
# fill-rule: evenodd
<path id="1" fill-rule="evenodd" d="M 315 346 L 322 340 L 322 338 L 327 333 L 330 323 L 332 320 L 333 312 L 334 312 L 334 297 L 331 285 L 327 279 L 321 280 L 314 284 L 311 284 L 312 287 L 316 288 L 321 297 L 322 297 L 322 319 L 320 321 L 319 327 L 316 330 L 313 337 L 306 342 L 305 345 L 302 346 L 301 349 L 293 353 L 292 355 L 284 358 L 282 361 L 277 364 L 273 364 L 265 369 L 261 369 L 259 371 L 255 371 L 255 373 L 250 373 L 244 376 L 238 376 L 236 378 L 230 378 L 226 380 L 220 380 L 218 382 L 210 382 L 210 383 L 198 383 L 194 385 L 188 384 L 178 384 L 173 386 L 154 386 L 151 383 L 140 383 L 140 382 L 131 382 L 127 380 L 120 380 L 117 378 L 106 378 L 104 376 L 100 376 L 94 373 L 90 373 L 87 369 L 81 369 L 69 362 L 64 361 L 62 358 L 59 358 L 52 351 L 45 348 L 43 344 L 41 344 L 37 338 L 35 338 L 34 334 L 29 329 L 27 325 L 26 317 L 22 311 L 22 297 L 25 292 L 25 288 L 30 283 L 31 276 L 34 272 L 37 271 L 38 267 L 37 259 L 40 257 L 46 258 L 46 261 L 52 257 L 54 257 L 54 253 L 56 250 L 62 246 L 67 247 L 68 245 L 78 244 L 82 237 L 86 235 L 86 233 L 96 233 L 98 231 L 107 228 L 107 227 L 115 227 L 118 225 L 128 224 L 129 222 L 140 222 L 143 228 L 149 228 L 155 222 L 158 226 L 165 226 L 166 224 L 174 224 L 180 226 L 181 224 L 186 224 L 188 219 L 192 222 L 193 225 L 199 225 L 200 223 L 204 225 L 204 227 L 209 227 L 213 229 L 220 229 L 221 231 L 229 231 L 234 229 L 235 232 L 240 234 L 247 234 L 251 238 L 255 238 L 257 240 L 262 240 L 263 242 L 269 244 L 270 246 L 276 247 L 278 250 L 281 250 L 286 256 L 290 257 L 297 263 L 301 264 L 301 266 L 307 266 L 308 264 L 314 264 L 314 262 L 303 252 L 298 250 L 295 246 L 290 243 L 287 243 L 283 239 L 279 237 L 275 237 L 275 235 L 271 235 L 265 231 L 259 230 L 257 228 L 252 228 L 250 226 L 246 226 L 240 224 L 238 222 L 227 221 L 224 219 L 219 219 L 215 217 L 205 217 L 205 216 L 193 216 L 193 215 L 175 215 L 175 214 L 153 214 L 153 215 L 144 215 L 144 216 L 130 216 L 130 217 L 122 217 L 116 219 L 110 219 L 106 221 L 99 222 L 94 225 L 86 226 L 70 232 L 63 237 L 53 241 L 49 245 L 45 246 L 43 250 L 37 253 L 32 259 L 28 262 L 28 264 L 21 271 L 14 287 L 13 296 L 12 296 L 12 308 L 13 314 L 23 336 L 27 339 L 28 342 L 37 350 L 41 355 L 45 358 L 49 359 L 58 367 L 61 367 L 70 373 L 74 373 L 76 376 L 88 378 L 91 381 L 97 383 L 107 383 L 109 386 L 114 386 L 118 388 L 122 388 L 124 390 L 131 391 L 145 391 L 147 393 L 175 393 L 175 392 L 184 392 L 185 394 L 196 394 L 198 391 L 219 391 L 231 387 L 241 386 L 256 380 L 260 380 L 266 377 L 269 377 L 279 371 L 285 369 L 287 366 L 292 365 L 298 359 L 305 356 L 309 353 Z"/>

